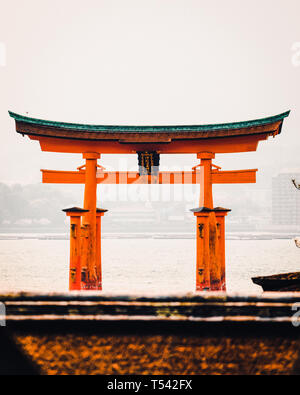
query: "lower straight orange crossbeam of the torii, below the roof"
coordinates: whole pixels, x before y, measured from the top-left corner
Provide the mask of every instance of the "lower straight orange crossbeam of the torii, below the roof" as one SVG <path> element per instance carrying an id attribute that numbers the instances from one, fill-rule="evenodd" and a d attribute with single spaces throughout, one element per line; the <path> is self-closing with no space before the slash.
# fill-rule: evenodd
<path id="1" fill-rule="evenodd" d="M 41 170 L 46 184 L 84 184 L 85 171 Z M 257 169 L 212 171 L 213 184 L 255 183 Z M 200 184 L 200 171 L 163 171 L 157 176 L 140 176 L 134 171 L 97 173 L 97 184 Z"/>

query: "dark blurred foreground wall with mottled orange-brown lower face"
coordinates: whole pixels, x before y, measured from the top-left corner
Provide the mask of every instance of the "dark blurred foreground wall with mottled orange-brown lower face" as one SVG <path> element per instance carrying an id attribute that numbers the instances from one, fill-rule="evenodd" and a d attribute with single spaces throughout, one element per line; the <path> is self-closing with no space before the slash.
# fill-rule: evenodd
<path id="1" fill-rule="evenodd" d="M 298 293 L 0 301 L 1 374 L 300 374 Z"/>

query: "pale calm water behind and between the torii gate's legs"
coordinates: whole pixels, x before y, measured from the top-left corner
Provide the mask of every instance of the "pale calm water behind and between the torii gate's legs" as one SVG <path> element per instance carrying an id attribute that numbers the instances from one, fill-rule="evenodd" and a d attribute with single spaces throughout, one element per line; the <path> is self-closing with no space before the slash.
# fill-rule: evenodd
<path id="1" fill-rule="evenodd" d="M 195 240 L 104 239 L 103 291 L 175 294 L 195 288 Z M 251 277 L 300 271 L 292 240 L 228 240 L 227 288 L 260 293 Z M 0 240 L 0 292 L 66 292 L 67 240 Z"/>

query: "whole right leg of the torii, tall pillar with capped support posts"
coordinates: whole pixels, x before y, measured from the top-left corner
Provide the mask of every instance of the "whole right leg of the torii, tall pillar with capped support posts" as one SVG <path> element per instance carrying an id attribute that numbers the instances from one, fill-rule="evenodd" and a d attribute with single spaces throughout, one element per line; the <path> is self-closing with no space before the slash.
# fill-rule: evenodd
<path id="1" fill-rule="evenodd" d="M 212 152 L 198 153 L 200 162 L 200 207 L 197 217 L 196 291 L 225 291 L 225 216 L 228 209 L 213 206 Z"/>

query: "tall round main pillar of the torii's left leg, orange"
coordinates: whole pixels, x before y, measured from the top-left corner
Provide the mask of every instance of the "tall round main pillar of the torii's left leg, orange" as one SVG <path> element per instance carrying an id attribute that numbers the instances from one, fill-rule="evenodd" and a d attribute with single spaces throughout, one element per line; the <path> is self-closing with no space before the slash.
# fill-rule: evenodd
<path id="1" fill-rule="evenodd" d="M 101 290 L 101 280 L 97 275 L 96 254 L 96 205 L 97 205 L 97 159 L 100 154 L 88 152 L 83 154 L 85 162 L 84 209 L 88 210 L 83 218 L 86 232 L 86 243 L 83 244 L 83 269 L 85 281 L 83 289 Z"/>

